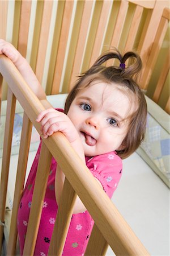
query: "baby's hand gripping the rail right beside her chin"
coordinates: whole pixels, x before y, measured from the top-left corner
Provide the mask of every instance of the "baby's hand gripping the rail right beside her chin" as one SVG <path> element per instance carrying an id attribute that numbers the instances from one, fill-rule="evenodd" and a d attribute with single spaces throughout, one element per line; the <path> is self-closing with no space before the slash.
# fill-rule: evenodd
<path id="1" fill-rule="evenodd" d="M 42 111 L 37 116 L 36 121 L 41 123 L 40 130 L 45 139 L 55 131 L 61 131 L 70 143 L 79 137 L 78 131 L 76 131 L 70 118 L 53 108 Z"/>

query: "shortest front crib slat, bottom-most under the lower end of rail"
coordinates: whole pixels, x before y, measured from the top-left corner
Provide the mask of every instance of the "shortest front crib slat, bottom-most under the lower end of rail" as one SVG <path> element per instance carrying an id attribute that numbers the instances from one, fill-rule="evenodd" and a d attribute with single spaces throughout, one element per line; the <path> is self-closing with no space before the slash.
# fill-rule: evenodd
<path id="1" fill-rule="evenodd" d="M 101 234 L 100 230 L 94 224 L 92 229 L 92 233 L 90 236 L 90 240 L 88 241 L 87 249 L 84 256 L 93 255 L 105 255 L 107 253 L 108 243 L 105 240 L 103 234 Z"/>

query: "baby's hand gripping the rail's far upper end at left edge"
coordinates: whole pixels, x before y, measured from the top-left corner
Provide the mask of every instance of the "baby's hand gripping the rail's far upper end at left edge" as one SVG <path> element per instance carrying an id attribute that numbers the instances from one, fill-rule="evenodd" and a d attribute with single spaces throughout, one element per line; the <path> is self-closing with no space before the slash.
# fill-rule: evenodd
<path id="1" fill-rule="evenodd" d="M 18 67 L 22 64 L 23 56 L 17 51 L 17 49 L 12 46 L 12 44 L 0 39 L 0 54 L 5 54 L 12 62 Z"/>

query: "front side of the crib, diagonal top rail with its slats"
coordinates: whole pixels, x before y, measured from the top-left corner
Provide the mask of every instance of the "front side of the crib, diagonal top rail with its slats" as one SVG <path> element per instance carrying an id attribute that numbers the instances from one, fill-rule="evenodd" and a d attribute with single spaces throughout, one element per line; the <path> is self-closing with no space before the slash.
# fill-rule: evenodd
<path id="1" fill-rule="evenodd" d="M 8 98 L 10 100 L 10 103 L 8 109 L 10 110 L 10 112 L 12 112 L 10 115 L 13 118 L 13 120 L 15 109 L 15 97 L 24 109 L 24 126 L 27 127 L 26 130 L 29 134 L 27 139 L 27 142 L 29 144 L 29 136 L 31 134 L 31 123 L 36 127 L 37 131 L 39 131 L 40 133 L 40 125 L 35 121 L 35 119 L 37 117 L 37 114 L 39 114 L 45 108 L 49 107 L 50 104 L 48 103 L 48 101 L 40 102 L 37 99 L 35 94 L 33 94 L 32 90 L 23 80 L 18 70 L 15 68 L 14 64 L 12 64 L 12 62 L 5 56 L 0 57 L 0 72 L 2 73 L 2 76 L 5 78 L 9 86 L 8 94 L 10 96 L 8 96 Z M 29 120 L 31 121 L 31 123 Z M 10 130 L 12 130 L 11 126 L 8 125 Z M 9 137 L 11 136 L 11 133 L 12 131 L 8 132 L 8 134 L 10 134 Z M 23 134 L 22 137 L 25 138 L 25 134 Z M 10 144 L 11 137 L 8 139 L 8 141 L 8 144 Z M 23 140 L 21 144 L 22 148 L 24 146 Z M 10 149 L 7 148 L 6 145 L 4 152 L 10 152 Z M 27 146 L 25 146 L 24 152 L 26 153 L 22 154 L 19 165 L 21 166 L 23 164 L 22 168 L 25 170 L 25 163 L 27 162 L 28 154 Z M 33 192 L 33 201 L 28 221 L 27 236 L 25 238 L 24 255 L 33 255 L 37 230 L 39 227 L 42 202 L 44 199 L 44 193 L 46 189 L 46 180 L 49 175 L 48 167 L 52 155 L 55 159 L 57 159 L 59 166 L 62 168 L 63 172 L 66 175 L 62 198 L 64 199 L 66 197 L 67 200 L 69 200 L 69 203 L 68 205 L 62 203 L 59 205 L 58 214 L 56 218 L 57 225 L 55 224 L 54 227 L 53 237 L 50 242 L 48 255 L 62 254 L 62 249 L 65 243 L 67 229 L 69 228 L 70 218 L 76 196 L 75 193 L 80 197 L 83 204 L 86 206 L 88 212 L 90 212 L 92 218 L 94 218 L 95 221 L 94 230 L 92 232 L 89 246 L 87 248 L 87 252 L 85 255 L 105 255 L 107 244 L 109 244 L 112 247 L 116 255 L 149 255 L 145 247 L 142 245 L 142 243 L 138 240 L 133 231 L 130 229 L 124 218 L 122 218 L 121 214 L 118 212 L 116 207 L 114 207 L 112 201 L 105 194 L 103 189 L 100 188 L 99 184 L 97 184 L 97 181 L 94 179 L 91 172 L 83 164 L 82 160 L 70 146 L 70 143 L 67 141 L 65 136 L 59 132 L 54 133 L 48 139 L 42 138 L 42 149 L 36 176 L 36 183 L 38 181 L 39 183 L 37 185 L 35 184 L 35 189 Z M 9 158 L 6 158 L 5 154 L 3 154 L 3 158 L 6 159 L 6 162 L 9 162 Z M 22 158 L 25 159 L 24 163 L 22 163 Z M 46 159 L 46 162 L 43 161 L 44 159 Z M 3 168 L 4 169 L 2 170 L 0 195 L 0 220 L 2 223 L 4 222 L 5 217 L 5 200 L 7 189 L 7 184 L 3 184 L 7 183 L 8 179 L 8 167 Z M 20 171 L 19 174 L 17 174 L 17 176 L 22 175 L 23 186 L 24 174 L 22 174 L 22 168 L 18 167 L 18 170 Z M 20 179 L 19 176 L 17 180 L 18 179 Z M 16 185 L 16 187 L 18 187 L 18 184 Z M 18 201 L 15 202 L 16 207 L 14 204 L 15 209 L 13 209 L 12 212 L 17 211 L 18 209 L 20 196 L 22 195 L 22 189 L 23 187 L 18 188 L 18 192 L 17 188 L 15 189 L 15 196 L 18 197 Z M 65 200 L 61 200 L 61 202 L 62 201 Z M 40 203 L 37 204 L 37 202 Z M 69 207 L 70 209 L 66 209 L 67 207 Z M 16 214 L 17 212 L 15 212 L 15 217 Z M 66 218 L 66 216 L 69 217 Z M 14 220 L 12 218 L 12 222 L 13 221 Z M 10 241 L 8 242 L 8 255 L 14 255 L 15 253 L 16 237 L 14 237 L 14 233 L 16 236 L 16 220 L 14 221 L 14 223 L 15 227 L 10 230 Z M 58 225 L 59 223 L 60 225 Z M 65 226 L 64 233 L 62 233 L 62 225 Z M 34 234 L 32 234 L 32 226 L 34 226 L 36 230 Z M 0 242 L 2 242 L 3 226 L 0 226 L 0 228 Z M 57 254 L 55 253 L 56 251 Z"/>

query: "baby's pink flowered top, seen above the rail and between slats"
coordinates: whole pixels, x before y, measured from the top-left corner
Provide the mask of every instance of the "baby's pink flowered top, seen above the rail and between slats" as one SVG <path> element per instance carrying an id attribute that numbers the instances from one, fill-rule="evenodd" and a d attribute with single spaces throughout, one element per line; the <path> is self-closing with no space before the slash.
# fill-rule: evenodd
<path id="1" fill-rule="evenodd" d="M 18 210 L 18 237 L 21 255 L 23 254 L 40 148 L 41 143 L 33 161 L 31 171 L 29 172 L 28 180 L 25 185 L 23 197 L 20 201 Z M 121 158 L 114 151 L 91 158 L 86 156 L 86 165 L 94 177 L 100 181 L 103 185 L 104 191 L 111 198 L 113 192 L 117 188 L 118 181 L 122 174 Z M 56 160 L 52 158 L 34 254 L 38 256 L 47 255 L 54 222 L 56 220 L 58 209 L 54 191 L 56 167 Z M 73 214 L 62 255 L 82 256 L 86 250 L 93 225 L 94 221 L 87 210 L 82 213 Z M 34 232 L 34 230 L 32 230 L 32 232 Z"/>

